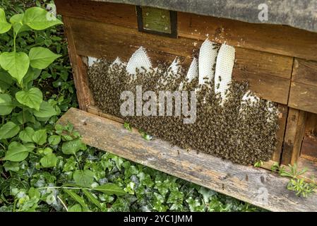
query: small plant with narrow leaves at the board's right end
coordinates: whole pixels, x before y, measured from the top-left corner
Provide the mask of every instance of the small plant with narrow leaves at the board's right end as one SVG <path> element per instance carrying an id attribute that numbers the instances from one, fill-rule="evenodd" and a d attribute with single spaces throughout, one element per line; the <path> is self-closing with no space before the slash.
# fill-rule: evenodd
<path id="1" fill-rule="evenodd" d="M 289 164 L 288 168 L 289 170 L 287 170 L 285 166 L 280 166 L 277 163 L 272 166 L 272 170 L 274 172 L 278 172 L 282 177 L 290 178 L 289 182 L 287 183 L 287 189 L 290 191 L 295 191 L 297 196 L 303 197 L 307 197 L 309 194 L 315 192 L 317 186 L 314 181 L 307 183 L 303 178 L 299 178 L 299 176 L 307 171 L 307 168 L 301 169 L 301 171 L 299 171 L 297 169 L 296 163 L 294 165 Z"/>

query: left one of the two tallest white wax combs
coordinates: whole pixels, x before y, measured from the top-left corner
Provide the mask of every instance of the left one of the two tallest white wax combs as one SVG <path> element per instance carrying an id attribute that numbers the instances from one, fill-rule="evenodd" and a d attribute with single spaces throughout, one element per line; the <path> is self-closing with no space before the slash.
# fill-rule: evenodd
<path id="1" fill-rule="evenodd" d="M 198 58 L 198 71 L 199 71 L 199 81 L 198 84 L 203 85 L 205 83 L 204 79 L 207 77 L 209 81 L 213 80 L 215 71 L 213 66 L 216 62 L 217 49 L 216 44 L 210 42 L 208 39 L 201 44 L 201 49 L 199 51 Z"/>

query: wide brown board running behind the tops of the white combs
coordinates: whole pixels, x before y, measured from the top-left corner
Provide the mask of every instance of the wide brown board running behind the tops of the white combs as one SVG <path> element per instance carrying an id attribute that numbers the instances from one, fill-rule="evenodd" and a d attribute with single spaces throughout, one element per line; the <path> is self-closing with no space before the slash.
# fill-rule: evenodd
<path id="1" fill-rule="evenodd" d="M 105 23 L 71 19 L 78 54 L 92 57 L 106 57 L 113 60 L 121 57 L 127 61 L 136 48 L 149 49 L 152 59 L 172 61 L 175 56 L 189 62 L 201 42 L 188 38 L 172 39 L 138 32 Z M 111 32 L 110 32 L 111 31 Z M 259 96 L 287 104 L 289 76 L 292 59 L 272 54 L 237 48 L 237 63 L 233 76 L 237 80 L 249 80 L 251 90 Z M 289 69 L 287 69 L 289 68 Z M 270 87 L 270 90 L 268 90 Z"/>

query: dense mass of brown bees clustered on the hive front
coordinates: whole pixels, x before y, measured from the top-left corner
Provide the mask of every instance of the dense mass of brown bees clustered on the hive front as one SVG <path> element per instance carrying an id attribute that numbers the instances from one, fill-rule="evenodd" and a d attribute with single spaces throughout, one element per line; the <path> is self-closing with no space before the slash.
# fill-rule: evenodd
<path id="1" fill-rule="evenodd" d="M 212 48 L 219 52 L 216 45 L 212 45 Z M 215 60 L 218 62 L 219 59 Z M 99 59 L 89 67 L 89 85 L 97 107 L 104 113 L 123 118 L 131 126 L 172 145 L 192 148 L 242 165 L 270 160 L 277 145 L 277 106 L 253 95 L 246 81 L 231 80 L 231 72 L 229 83 L 227 77 L 219 73 L 216 73 L 215 79 L 210 79 L 210 76 L 202 78 L 201 74 L 195 76 L 198 67 L 196 61 L 194 63 L 193 70 L 188 70 L 191 76 L 186 75 L 186 70 L 179 63 L 172 67 L 160 62 L 156 68 L 136 67 L 131 79 L 131 73 L 125 70 L 125 63 Z M 217 65 L 211 63 L 215 76 Z M 215 92 L 220 86 L 215 81 L 226 81 L 225 93 Z M 120 105 L 124 100 L 120 100 L 120 95 L 124 90 L 130 90 L 136 96 L 136 85 L 142 85 L 143 92 L 196 91 L 196 121 L 184 124 L 183 116 L 123 117 Z"/>

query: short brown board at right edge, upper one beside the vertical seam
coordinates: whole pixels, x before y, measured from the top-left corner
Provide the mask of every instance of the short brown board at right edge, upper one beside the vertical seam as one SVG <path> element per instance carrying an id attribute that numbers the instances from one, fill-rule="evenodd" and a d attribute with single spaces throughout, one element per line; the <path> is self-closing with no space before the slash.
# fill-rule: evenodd
<path id="1" fill-rule="evenodd" d="M 317 62 L 295 58 L 292 81 L 317 87 Z"/>

